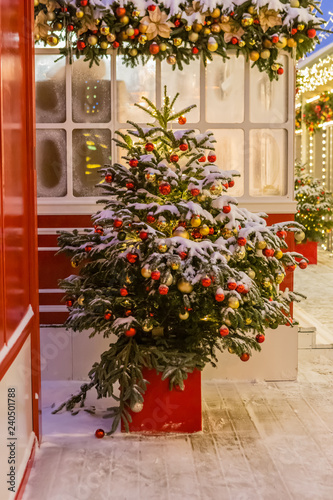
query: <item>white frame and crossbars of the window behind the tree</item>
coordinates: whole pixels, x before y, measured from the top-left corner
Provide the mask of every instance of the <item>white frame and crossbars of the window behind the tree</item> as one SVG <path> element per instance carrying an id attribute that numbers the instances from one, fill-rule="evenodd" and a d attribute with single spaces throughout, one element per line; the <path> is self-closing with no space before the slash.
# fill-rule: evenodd
<path id="1" fill-rule="evenodd" d="M 36 48 L 35 55 L 41 54 L 59 54 L 59 49 L 52 48 Z M 116 78 L 116 57 L 117 54 L 113 50 L 108 51 L 111 62 L 111 102 L 117 102 L 117 85 Z M 243 130 L 244 133 L 244 194 L 238 197 L 239 206 L 246 207 L 251 211 L 264 211 L 267 213 L 294 213 L 296 203 L 294 201 L 294 132 L 295 132 L 295 61 L 288 57 L 287 68 L 285 74 L 280 78 L 288 78 L 287 82 L 287 113 L 284 123 L 254 123 L 250 121 L 250 71 L 251 62 L 244 61 L 245 64 L 245 86 L 244 86 L 244 121 L 240 123 L 211 123 L 206 121 L 205 106 L 206 106 L 206 70 L 203 62 L 200 62 L 200 121 L 196 123 L 187 122 L 186 128 L 199 129 L 200 131 L 214 129 L 237 129 Z M 155 96 L 158 106 L 162 104 L 162 79 L 161 79 L 161 62 L 155 61 L 156 76 L 155 76 Z M 73 194 L 73 170 L 72 170 L 72 131 L 74 129 L 109 129 L 111 132 L 111 157 L 116 159 L 116 145 L 112 141 L 114 131 L 126 128 L 126 123 L 120 123 L 117 117 L 117 106 L 111 106 L 111 119 L 107 123 L 79 123 L 72 119 L 72 86 L 71 75 L 73 66 L 66 61 L 65 64 L 65 85 L 66 85 L 66 120 L 63 123 L 36 123 L 37 130 L 46 129 L 63 129 L 66 132 L 66 158 L 67 158 L 67 195 L 64 197 L 39 197 L 38 198 L 38 214 L 39 215 L 54 215 L 54 214 L 91 214 L 96 211 L 96 200 L 99 198 L 91 197 L 75 197 Z M 93 68 L 92 68 L 93 71 Z M 177 69 L 176 69 L 177 71 Z M 184 74 L 186 67 L 184 67 Z M 173 129 L 183 128 L 181 125 L 173 124 Z M 283 196 L 251 196 L 249 194 L 250 186 L 250 131 L 254 129 L 278 129 L 285 130 L 287 134 L 286 141 L 286 161 L 287 161 L 287 186 L 286 195 Z M 218 162 L 217 162 L 218 163 Z M 232 193 L 230 193 L 232 194 Z"/>

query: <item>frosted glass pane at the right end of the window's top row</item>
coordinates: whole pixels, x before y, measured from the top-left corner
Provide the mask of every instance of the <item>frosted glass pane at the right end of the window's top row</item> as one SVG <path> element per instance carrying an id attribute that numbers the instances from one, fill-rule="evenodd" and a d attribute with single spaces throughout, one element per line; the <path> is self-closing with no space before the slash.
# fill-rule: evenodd
<path id="1" fill-rule="evenodd" d="M 284 74 L 271 82 L 267 73 L 250 71 L 250 120 L 253 123 L 284 123 L 288 107 L 288 57 L 281 56 Z"/>

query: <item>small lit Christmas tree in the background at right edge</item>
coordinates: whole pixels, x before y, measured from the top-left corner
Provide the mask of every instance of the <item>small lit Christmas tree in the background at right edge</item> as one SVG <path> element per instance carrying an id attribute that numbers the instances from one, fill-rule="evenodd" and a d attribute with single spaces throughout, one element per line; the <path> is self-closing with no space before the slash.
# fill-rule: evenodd
<path id="1" fill-rule="evenodd" d="M 303 238 L 324 241 L 333 228 L 332 195 L 325 191 L 321 180 L 314 179 L 301 165 L 296 165 L 295 170 L 295 198 L 295 220 L 304 226 Z M 301 236 L 295 235 L 296 240 Z"/>

